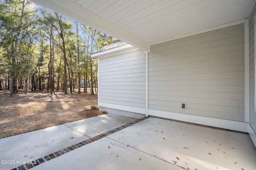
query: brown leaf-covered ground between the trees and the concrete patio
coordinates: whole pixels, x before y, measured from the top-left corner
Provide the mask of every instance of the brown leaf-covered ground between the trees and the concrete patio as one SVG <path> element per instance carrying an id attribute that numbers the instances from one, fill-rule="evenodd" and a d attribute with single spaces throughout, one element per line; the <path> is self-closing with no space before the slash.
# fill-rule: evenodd
<path id="1" fill-rule="evenodd" d="M 0 91 L 0 139 L 105 114 L 98 111 L 97 95 L 84 92 L 19 91 L 9 96 L 10 91 Z"/>

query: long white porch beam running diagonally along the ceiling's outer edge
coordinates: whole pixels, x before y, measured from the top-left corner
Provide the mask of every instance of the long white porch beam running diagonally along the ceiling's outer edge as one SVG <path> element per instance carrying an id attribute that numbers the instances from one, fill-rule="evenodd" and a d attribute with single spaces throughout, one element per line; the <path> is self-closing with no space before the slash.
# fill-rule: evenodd
<path id="1" fill-rule="evenodd" d="M 150 44 L 136 37 L 132 33 L 121 29 L 113 23 L 101 18 L 86 8 L 76 4 L 72 0 L 32 0 L 68 18 L 72 18 L 80 23 L 90 26 L 98 31 L 111 35 L 121 41 L 150 52 Z"/>

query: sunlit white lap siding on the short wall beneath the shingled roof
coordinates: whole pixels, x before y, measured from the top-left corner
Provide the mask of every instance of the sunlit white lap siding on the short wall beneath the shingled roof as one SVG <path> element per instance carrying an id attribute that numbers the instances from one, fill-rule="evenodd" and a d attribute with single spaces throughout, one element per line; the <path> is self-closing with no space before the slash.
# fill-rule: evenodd
<path id="1" fill-rule="evenodd" d="M 143 51 L 100 59 L 99 102 L 145 108 L 145 62 Z"/>

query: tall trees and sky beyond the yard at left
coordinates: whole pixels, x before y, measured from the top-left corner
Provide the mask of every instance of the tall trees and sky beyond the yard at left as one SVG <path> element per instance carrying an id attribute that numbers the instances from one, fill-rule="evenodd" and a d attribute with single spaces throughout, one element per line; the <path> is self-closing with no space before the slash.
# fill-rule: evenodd
<path id="1" fill-rule="evenodd" d="M 95 94 L 98 65 L 90 55 L 114 41 L 28 0 L 0 0 L 0 90 Z"/>

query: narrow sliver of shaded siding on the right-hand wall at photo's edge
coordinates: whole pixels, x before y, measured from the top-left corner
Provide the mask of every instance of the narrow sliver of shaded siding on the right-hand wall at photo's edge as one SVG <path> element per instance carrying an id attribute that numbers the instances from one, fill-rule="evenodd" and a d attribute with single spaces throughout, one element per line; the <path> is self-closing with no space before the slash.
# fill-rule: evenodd
<path id="1" fill-rule="evenodd" d="M 254 112 L 254 16 L 256 6 L 249 19 L 249 55 L 250 55 L 250 125 L 256 132 L 256 113 Z"/>

